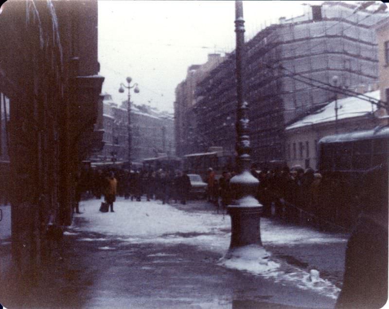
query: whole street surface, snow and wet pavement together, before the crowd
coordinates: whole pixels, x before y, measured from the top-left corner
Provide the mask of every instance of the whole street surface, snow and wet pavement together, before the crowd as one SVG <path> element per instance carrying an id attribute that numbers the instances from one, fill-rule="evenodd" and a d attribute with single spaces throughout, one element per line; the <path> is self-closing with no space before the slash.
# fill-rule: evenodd
<path id="1" fill-rule="evenodd" d="M 65 232 L 70 295 L 82 308 L 333 308 L 347 235 L 261 219 L 265 250 L 224 259 L 230 217 L 205 202 L 99 200 Z M 72 302 L 75 300 L 73 299 Z M 271 305 L 273 304 L 273 305 Z M 246 307 L 245 307 L 246 306 Z M 248 307 L 247 307 L 248 306 Z"/>

